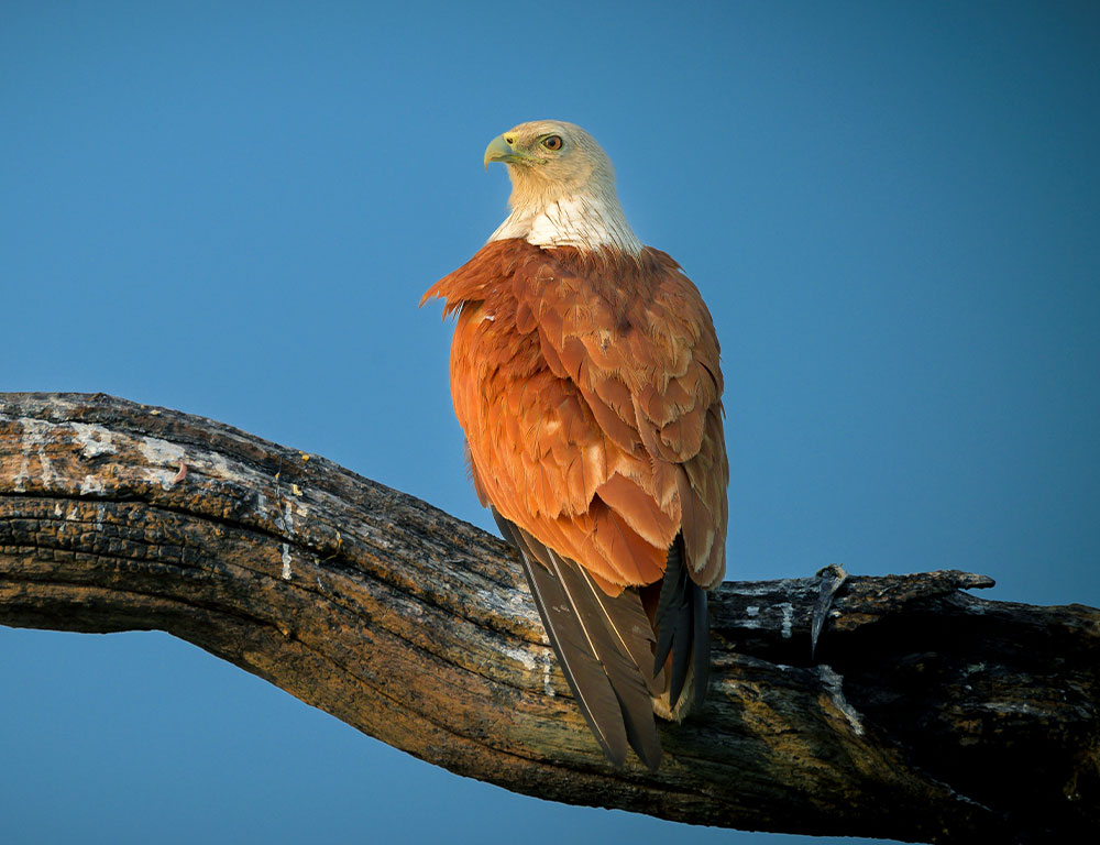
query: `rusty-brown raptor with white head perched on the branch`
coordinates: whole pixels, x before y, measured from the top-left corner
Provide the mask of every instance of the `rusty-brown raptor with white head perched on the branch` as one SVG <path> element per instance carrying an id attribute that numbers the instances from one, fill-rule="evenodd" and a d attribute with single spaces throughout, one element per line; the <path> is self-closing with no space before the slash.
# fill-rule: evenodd
<path id="1" fill-rule="evenodd" d="M 454 411 L 474 490 L 520 559 L 596 743 L 656 770 L 657 716 L 702 706 L 707 591 L 726 567 L 723 377 L 714 321 L 627 222 L 581 127 L 493 139 L 507 218 L 420 300 L 455 316 Z"/>

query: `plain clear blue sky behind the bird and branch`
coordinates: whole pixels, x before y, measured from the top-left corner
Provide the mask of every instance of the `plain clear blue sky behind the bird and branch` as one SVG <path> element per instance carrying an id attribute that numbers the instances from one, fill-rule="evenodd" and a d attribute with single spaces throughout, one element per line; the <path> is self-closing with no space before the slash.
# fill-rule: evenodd
<path id="1" fill-rule="evenodd" d="M 105 391 L 486 528 L 417 309 L 494 135 L 616 164 L 724 350 L 729 575 L 1100 605 L 1100 7 L 0 1 L 0 389 Z M 4 842 L 782 842 L 451 776 L 164 635 L 0 629 Z M 821 841 L 814 841 L 821 842 Z"/>

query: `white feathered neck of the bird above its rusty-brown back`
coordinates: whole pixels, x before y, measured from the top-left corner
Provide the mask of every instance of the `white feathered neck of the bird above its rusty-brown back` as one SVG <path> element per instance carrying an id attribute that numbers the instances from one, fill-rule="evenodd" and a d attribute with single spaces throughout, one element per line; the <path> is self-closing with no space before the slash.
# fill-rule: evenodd
<path id="1" fill-rule="evenodd" d="M 536 246 L 576 246 L 592 252 L 610 246 L 628 255 L 641 252 L 641 242 L 618 199 L 584 194 L 514 209 L 490 241 L 509 238 L 521 238 Z"/>

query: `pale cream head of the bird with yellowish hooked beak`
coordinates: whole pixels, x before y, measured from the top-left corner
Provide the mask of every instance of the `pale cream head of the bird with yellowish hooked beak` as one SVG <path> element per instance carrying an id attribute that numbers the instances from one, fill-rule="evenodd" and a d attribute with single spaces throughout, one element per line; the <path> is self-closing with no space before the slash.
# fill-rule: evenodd
<path id="1" fill-rule="evenodd" d="M 504 162 L 512 177 L 512 207 L 544 207 L 574 197 L 615 197 L 615 171 L 596 140 L 574 123 L 535 120 L 497 135 L 485 167 Z"/>

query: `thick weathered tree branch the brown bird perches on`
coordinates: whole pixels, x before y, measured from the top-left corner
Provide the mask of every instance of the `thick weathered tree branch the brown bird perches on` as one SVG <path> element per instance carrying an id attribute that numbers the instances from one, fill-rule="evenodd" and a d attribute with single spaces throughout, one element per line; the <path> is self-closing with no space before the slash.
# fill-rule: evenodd
<path id="1" fill-rule="evenodd" d="M 452 771 L 695 824 L 1045 842 L 1100 824 L 1100 612 L 960 572 L 727 583 L 705 711 L 606 764 L 498 539 L 229 426 L 0 394 L 0 623 L 161 629 Z"/>

